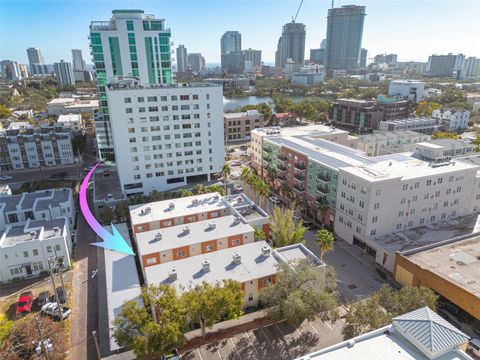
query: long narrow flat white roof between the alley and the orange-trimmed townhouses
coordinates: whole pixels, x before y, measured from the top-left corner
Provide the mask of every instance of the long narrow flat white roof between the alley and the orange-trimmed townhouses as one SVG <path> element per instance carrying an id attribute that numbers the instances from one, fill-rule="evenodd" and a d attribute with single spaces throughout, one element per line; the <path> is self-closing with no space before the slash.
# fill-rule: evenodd
<path id="1" fill-rule="evenodd" d="M 130 244 L 127 224 L 116 224 L 115 227 Z M 104 226 L 104 229 L 112 233 L 111 226 Z M 98 241 L 102 240 L 98 239 Z M 121 348 L 113 337 L 113 320 L 115 316 L 118 315 L 125 301 L 137 300 L 141 304 L 143 304 L 143 301 L 140 296 L 141 286 L 135 265 L 135 257 L 112 250 L 104 250 L 104 255 L 110 351 L 115 351 Z"/>

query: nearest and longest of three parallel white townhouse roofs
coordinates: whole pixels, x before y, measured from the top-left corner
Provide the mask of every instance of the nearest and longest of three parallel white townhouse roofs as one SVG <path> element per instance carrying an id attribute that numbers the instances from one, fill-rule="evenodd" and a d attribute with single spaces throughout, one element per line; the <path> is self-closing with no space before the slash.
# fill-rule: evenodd
<path id="1" fill-rule="evenodd" d="M 267 247 L 271 253 L 262 254 L 262 248 Z M 301 251 L 297 251 L 301 248 Z M 233 262 L 233 254 L 239 254 L 241 263 Z M 323 263 L 304 245 L 295 244 L 272 251 L 265 241 L 258 241 L 233 248 L 214 251 L 208 254 L 192 256 L 186 259 L 163 263 L 145 268 L 147 284 L 172 284 L 178 289 L 189 288 L 206 281 L 216 283 L 232 279 L 239 282 L 259 279 L 277 273 L 277 264 L 289 260 L 309 258 L 319 266 Z M 210 271 L 202 270 L 202 262 L 208 260 Z M 169 278 L 169 273 L 175 269 L 177 278 Z"/>

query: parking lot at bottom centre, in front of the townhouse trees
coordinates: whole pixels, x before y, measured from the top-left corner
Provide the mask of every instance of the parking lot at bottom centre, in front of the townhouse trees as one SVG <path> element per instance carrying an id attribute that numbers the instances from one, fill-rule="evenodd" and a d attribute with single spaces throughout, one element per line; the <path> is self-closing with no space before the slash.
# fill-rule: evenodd
<path id="1" fill-rule="evenodd" d="M 190 350 L 182 354 L 181 359 L 296 359 L 343 341 L 343 324 L 342 319 L 335 324 L 304 321 L 294 329 L 286 322 L 274 323 Z"/>

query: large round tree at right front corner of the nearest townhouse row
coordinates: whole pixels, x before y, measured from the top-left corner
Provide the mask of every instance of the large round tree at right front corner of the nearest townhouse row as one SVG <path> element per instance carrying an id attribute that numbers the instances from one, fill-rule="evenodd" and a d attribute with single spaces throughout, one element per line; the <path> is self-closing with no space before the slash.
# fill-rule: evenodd
<path id="1" fill-rule="evenodd" d="M 335 321 L 339 316 L 335 287 L 332 270 L 310 260 L 280 263 L 275 283 L 260 292 L 260 303 L 268 307 L 269 318 L 285 319 L 294 327 L 316 316 Z"/>

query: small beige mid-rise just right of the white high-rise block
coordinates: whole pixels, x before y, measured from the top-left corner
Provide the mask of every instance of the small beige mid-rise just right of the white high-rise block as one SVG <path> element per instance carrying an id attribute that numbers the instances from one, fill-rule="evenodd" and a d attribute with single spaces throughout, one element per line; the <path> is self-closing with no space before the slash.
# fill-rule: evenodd
<path id="1" fill-rule="evenodd" d="M 250 132 L 263 127 L 263 115 L 258 110 L 247 110 L 240 113 L 223 115 L 225 142 L 227 144 L 241 141 L 250 141 Z"/>

